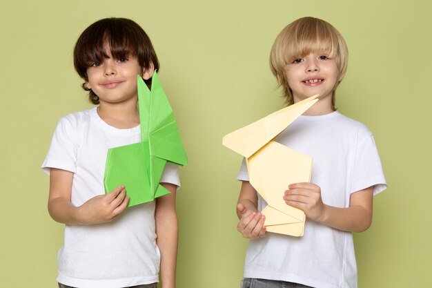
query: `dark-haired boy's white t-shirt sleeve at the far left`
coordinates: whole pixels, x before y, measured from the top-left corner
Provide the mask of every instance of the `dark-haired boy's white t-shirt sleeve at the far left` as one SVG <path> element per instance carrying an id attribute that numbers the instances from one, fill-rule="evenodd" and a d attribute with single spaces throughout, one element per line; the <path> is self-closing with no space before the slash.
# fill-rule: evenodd
<path id="1" fill-rule="evenodd" d="M 75 132 L 70 119 L 63 117 L 59 120 L 55 133 L 52 136 L 50 148 L 41 169 L 50 174 L 50 168 L 77 172 L 77 147 Z"/>

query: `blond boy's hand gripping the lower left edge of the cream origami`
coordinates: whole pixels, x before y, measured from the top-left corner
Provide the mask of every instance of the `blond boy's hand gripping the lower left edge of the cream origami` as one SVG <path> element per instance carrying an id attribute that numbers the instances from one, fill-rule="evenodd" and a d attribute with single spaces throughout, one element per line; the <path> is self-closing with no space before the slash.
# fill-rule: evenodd
<path id="1" fill-rule="evenodd" d="M 266 227 L 264 221 L 266 217 L 257 211 L 247 209 L 242 203 L 237 204 L 237 211 L 241 215 L 237 230 L 242 233 L 244 238 L 251 240 L 264 237 Z"/>

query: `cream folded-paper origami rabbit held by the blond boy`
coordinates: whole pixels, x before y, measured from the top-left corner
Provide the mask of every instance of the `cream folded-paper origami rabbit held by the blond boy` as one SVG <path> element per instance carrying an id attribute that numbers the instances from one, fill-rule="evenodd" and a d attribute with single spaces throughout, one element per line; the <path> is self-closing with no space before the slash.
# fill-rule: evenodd
<path id="1" fill-rule="evenodd" d="M 303 236 L 304 212 L 287 205 L 283 196 L 289 184 L 311 181 L 312 158 L 273 139 L 315 104 L 317 97 L 276 111 L 222 140 L 224 146 L 246 157 L 249 180 L 268 204 L 262 213 L 269 232 Z"/>

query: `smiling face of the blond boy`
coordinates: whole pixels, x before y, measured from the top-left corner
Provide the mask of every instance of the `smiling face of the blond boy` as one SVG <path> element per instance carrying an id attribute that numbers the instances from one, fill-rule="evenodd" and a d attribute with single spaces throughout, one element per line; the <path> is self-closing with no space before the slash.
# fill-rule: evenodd
<path id="1" fill-rule="evenodd" d="M 315 94 L 320 95 L 320 106 L 331 107 L 333 89 L 342 77 L 338 75 L 335 59 L 326 52 L 311 52 L 286 65 L 286 79 L 293 91 L 294 103 Z"/>

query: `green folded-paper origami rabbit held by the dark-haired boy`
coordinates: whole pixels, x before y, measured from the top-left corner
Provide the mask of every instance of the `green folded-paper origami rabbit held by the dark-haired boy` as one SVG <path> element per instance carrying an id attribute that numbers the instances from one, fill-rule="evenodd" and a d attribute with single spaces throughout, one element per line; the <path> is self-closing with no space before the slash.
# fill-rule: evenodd
<path id="1" fill-rule="evenodd" d="M 104 175 L 105 193 L 120 185 L 126 187 L 128 207 L 170 193 L 159 184 L 166 162 L 188 164 L 173 109 L 156 71 L 151 91 L 139 75 L 137 78 L 141 142 L 110 148 Z"/>

